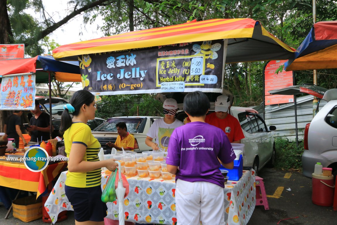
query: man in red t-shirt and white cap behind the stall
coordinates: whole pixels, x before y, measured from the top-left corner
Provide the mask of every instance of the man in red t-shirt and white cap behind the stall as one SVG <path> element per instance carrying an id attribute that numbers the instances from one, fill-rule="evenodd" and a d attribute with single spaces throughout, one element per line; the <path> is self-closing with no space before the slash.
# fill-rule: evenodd
<path id="1" fill-rule="evenodd" d="M 215 102 L 215 112 L 206 116 L 205 122 L 216 126 L 226 133 L 231 143 L 241 143 L 244 138 L 240 122 L 230 115 L 231 101 L 228 95 L 220 95 Z"/>

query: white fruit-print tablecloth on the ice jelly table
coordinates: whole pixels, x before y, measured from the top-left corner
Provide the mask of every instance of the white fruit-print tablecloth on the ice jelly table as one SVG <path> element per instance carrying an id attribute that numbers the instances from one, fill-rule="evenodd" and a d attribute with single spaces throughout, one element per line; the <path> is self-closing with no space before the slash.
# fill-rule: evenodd
<path id="1" fill-rule="evenodd" d="M 108 176 L 102 174 L 102 188 Z M 64 193 L 66 172 L 61 173 L 45 209 L 53 223 L 63 210 L 72 210 Z M 177 224 L 175 187 L 172 180 L 130 177 L 129 195 L 123 200 L 126 221 L 136 223 Z M 255 171 L 244 170 L 239 181 L 228 180 L 225 188 L 225 220 L 228 225 L 245 225 L 255 208 Z M 108 218 L 118 220 L 118 200 L 108 202 Z"/>

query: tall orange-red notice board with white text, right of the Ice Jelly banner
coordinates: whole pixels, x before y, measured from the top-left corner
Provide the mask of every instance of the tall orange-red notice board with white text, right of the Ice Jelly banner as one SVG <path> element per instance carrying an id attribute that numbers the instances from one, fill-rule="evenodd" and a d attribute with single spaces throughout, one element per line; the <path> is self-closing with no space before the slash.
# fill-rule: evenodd
<path id="1" fill-rule="evenodd" d="M 265 105 L 294 102 L 294 95 L 270 94 L 268 91 L 281 89 L 293 84 L 293 71 L 284 71 L 284 63 L 287 60 L 269 61 L 265 67 Z M 276 70 L 283 66 L 278 74 Z"/>

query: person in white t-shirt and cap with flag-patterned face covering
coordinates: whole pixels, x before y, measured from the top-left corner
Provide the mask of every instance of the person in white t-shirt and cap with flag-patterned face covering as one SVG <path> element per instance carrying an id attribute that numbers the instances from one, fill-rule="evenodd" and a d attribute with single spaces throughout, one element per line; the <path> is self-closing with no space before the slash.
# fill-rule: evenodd
<path id="1" fill-rule="evenodd" d="M 153 122 L 149 132 L 146 134 L 145 143 L 152 147 L 153 151 L 167 152 L 168 141 L 170 141 L 173 130 L 184 125 L 184 123 L 175 118 L 178 109 L 176 100 L 166 99 L 163 108 L 165 117 Z M 152 142 L 154 138 L 155 142 Z"/>

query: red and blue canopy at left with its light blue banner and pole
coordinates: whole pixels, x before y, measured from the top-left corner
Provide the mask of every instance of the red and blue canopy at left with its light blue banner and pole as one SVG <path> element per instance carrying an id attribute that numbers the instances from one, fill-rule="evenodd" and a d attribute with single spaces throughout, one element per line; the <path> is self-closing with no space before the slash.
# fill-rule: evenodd
<path id="1" fill-rule="evenodd" d="M 33 110 L 37 83 L 49 84 L 51 99 L 53 78 L 60 82 L 81 82 L 78 62 L 57 61 L 48 55 L 0 60 L 0 78 L 1 110 Z M 49 102 L 51 109 L 51 100 Z M 52 117 L 50 117 L 50 124 L 52 124 Z M 52 127 L 50 136 L 52 137 Z"/>

